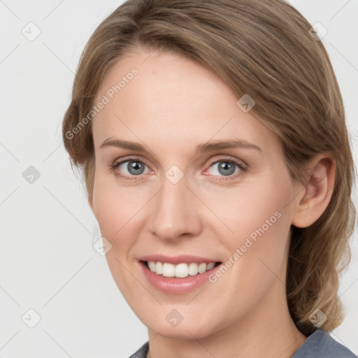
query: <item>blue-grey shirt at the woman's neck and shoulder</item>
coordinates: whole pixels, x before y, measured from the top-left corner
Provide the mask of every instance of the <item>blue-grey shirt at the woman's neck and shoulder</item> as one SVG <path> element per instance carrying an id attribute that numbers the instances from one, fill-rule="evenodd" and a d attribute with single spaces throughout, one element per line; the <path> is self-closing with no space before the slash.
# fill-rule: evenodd
<path id="1" fill-rule="evenodd" d="M 147 358 L 149 342 L 145 342 L 129 358 Z M 294 352 L 291 358 L 357 358 L 352 351 L 338 343 L 326 331 L 317 329 L 306 339 L 305 343 Z"/>

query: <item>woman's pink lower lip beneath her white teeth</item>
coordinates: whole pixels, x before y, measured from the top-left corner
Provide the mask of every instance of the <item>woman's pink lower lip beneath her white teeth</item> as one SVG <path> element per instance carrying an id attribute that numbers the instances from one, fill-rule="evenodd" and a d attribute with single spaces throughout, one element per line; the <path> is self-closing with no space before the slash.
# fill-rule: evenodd
<path id="1" fill-rule="evenodd" d="M 202 286 L 208 282 L 209 275 L 217 270 L 222 264 L 214 266 L 211 270 L 197 275 L 187 276 L 186 278 L 171 278 L 162 275 L 157 275 L 150 271 L 145 262 L 139 262 L 141 269 L 145 275 L 145 278 L 154 286 L 156 289 L 169 294 L 185 294 L 191 292 L 194 289 Z"/>

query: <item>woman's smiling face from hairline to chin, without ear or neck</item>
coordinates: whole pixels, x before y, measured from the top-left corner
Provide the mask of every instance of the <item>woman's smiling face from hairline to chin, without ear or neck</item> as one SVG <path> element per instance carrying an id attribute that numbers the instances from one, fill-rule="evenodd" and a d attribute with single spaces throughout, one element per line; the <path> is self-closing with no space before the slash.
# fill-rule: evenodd
<path id="1" fill-rule="evenodd" d="M 285 305 L 298 191 L 275 135 L 237 101 L 189 59 L 139 50 L 117 62 L 96 96 L 90 205 L 124 299 L 162 336 L 259 324 Z M 142 262 L 150 259 L 166 263 L 165 275 Z M 194 275 L 213 266 L 201 262 L 222 264 Z M 185 267 L 187 278 L 168 277 L 187 275 Z"/>

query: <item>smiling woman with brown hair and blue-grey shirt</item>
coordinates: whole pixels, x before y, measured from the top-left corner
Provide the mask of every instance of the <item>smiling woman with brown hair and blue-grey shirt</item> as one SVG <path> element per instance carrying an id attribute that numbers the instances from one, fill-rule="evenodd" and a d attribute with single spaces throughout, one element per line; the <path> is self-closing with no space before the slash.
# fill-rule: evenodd
<path id="1" fill-rule="evenodd" d="M 338 273 L 354 164 L 320 36 L 281 0 L 129 0 L 63 123 L 106 259 L 148 327 L 132 357 L 355 357 Z"/>

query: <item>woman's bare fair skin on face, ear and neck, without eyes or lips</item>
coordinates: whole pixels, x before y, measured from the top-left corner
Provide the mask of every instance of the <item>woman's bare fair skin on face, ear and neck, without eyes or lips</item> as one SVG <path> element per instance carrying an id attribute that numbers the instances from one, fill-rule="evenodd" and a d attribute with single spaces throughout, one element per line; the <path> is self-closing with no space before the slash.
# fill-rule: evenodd
<path id="1" fill-rule="evenodd" d="M 120 59 L 96 103 L 133 67 L 138 75 L 92 120 L 96 169 L 88 200 L 112 245 L 106 259 L 117 287 L 148 327 L 148 357 L 291 357 L 306 336 L 287 308 L 290 228 L 322 215 L 334 185 L 334 159 L 317 155 L 306 184 L 294 182 L 275 134 L 239 108 L 215 74 L 169 52 L 138 49 Z M 107 138 L 134 141 L 148 152 L 99 148 Z M 234 138 L 262 152 L 195 151 L 199 143 Z M 143 173 L 129 172 L 128 162 L 110 170 L 124 159 L 142 161 Z M 215 161 L 227 159 L 247 170 L 235 166 L 225 175 Z M 175 185 L 165 176 L 173 165 L 183 173 Z M 138 257 L 156 253 L 225 262 L 277 211 L 280 218 L 222 277 L 193 292 L 159 292 L 138 265 Z M 176 327 L 166 321 L 173 309 L 183 317 Z"/>

